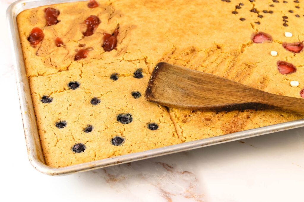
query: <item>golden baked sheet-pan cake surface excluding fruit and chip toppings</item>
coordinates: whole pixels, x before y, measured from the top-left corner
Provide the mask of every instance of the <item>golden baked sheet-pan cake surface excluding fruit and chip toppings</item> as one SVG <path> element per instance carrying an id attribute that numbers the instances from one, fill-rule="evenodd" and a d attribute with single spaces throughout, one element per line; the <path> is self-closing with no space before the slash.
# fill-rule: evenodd
<path id="1" fill-rule="evenodd" d="M 48 6 L 23 11 L 17 17 L 48 165 L 63 167 L 303 118 L 275 110 L 216 113 L 169 109 L 168 113 L 143 97 L 130 95 L 133 90 L 143 94 L 154 65 L 164 61 L 270 93 L 299 97 L 304 87 L 303 52 L 289 52 L 282 43 L 304 40 L 304 17 L 295 16 L 303 13 L 302 2 L 246 1 L 239 5 L 235 0 L 108 0 L 98 1 L 97 8 L 88 8 L 87 3 L 52 5 L 60 11 L 56 25 L 46 26 L 43 9 Z M 254 8 L 259 13 L 250 12 Z M 98 16 L 101 23 L 93 35 L 84 37 L 83 22 L 90 15 Z M 282 16 L 288 16 L 288 27 L 283 26 Z M 36 48 L 27 41 L 33 27 L 45 35 Z M 105 52 L 103 33 L 113 33 L 117 27 L 117 49 Z M 256 32 L 271 35 L 273 42 L 253 43 Z M 293 37 L 285 37 L 284 32 L 292 32 Z M 63 46 L 55 45 L 57 37 Z M 88 57 L 74 61 L 81 48 L 90 48 Z M 270 55 L 272 50 L 278 52 L 277 57 Z M 297 71 L 280 74 L 278 60 L 292 63 Z M 133 77 L 138 68 L 143 79 Z M 119 73 L 117 81 L 109 78 L 112 73 Z M 299 81 L 299 87 L 291 87 L 292 80 Z M 80 88 L 69 89 L 70 81 L 79 82 Z M 52 102 L 42 103 L 44 95 L 52 97 Z M 93 97 L 101 103 L 92 106 Z M 133 122 L 117 122 L 118 113 L 132 113 Z M 67 127 L 58 129 L 58 120 L 66 120 Z M 150 122 L 158 123 L 159 128 L 147 129 Z M 87 124 L 95 126 L 91 133 L 82 131 Z M 116 135 L 126 138 L 122 146 L 110 143 Z M 74 153 L 75 143 L 84 143 L 85 152 Z"/>

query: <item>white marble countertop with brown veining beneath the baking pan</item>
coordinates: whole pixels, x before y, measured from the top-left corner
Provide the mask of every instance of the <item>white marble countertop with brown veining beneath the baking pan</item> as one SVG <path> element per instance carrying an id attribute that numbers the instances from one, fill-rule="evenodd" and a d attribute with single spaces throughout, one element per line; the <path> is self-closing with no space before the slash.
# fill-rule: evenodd
<path id="1" fill-rule="evenodd" d="M 29 163 L 0 0 L 1 200 L 303 201 L 304 128 L 63 177 Z"/>

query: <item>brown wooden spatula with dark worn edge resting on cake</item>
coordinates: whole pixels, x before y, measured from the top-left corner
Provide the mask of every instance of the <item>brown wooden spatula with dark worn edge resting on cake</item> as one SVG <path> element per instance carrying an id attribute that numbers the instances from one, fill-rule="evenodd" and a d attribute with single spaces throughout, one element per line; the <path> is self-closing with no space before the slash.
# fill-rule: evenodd
<path id="1" fill-rule="evenodd" d="M 219 76 L 158 63 L 147 101 L 189 110 L 281 109 L 304 115 L 304 99 L 267 93 Z"/>

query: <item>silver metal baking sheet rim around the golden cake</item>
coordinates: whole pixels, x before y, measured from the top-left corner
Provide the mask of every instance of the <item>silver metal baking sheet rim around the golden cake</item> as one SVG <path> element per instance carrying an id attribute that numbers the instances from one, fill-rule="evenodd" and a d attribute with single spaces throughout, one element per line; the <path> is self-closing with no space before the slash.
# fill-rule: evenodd
<path id="1" fill-rule="evenodd" d="M 20 12 L 29 8 L 77 1 L 80 0 L 19 0 L 12 3 L 7 9 L 6 13 L 9 23 L 9 31 L 11 32 L 10 38 L 12 42 L 12 49 L 15 56 L 14 66 L 16 73 L 16 82 L 19 93 L 19 102 L 28 157 L 30 163 L 38 171 L 48 175 L 71 174 L 304 126 L 304 119 L 295 120 L 291 122 L 245 130 L 222 136 L 210 137 L 203 140 L 196 140 L 188 143 L 181 143 L 177 145 L 166 146 L 158 149 L 147 150 L 143 152 L 132 153 L 119 157 L 112 157 L 108 159 L 97 160 L 73 166 L 67 166 L 62 168 L 54 168 L 47 166 L 45 164 L 43 152 L 40 145 L 39 134 L 36 125 L 36 117 L 34 114 L 29 83 L 26 77 L 26 70 L 23 62 L 16 17 Z"/>

